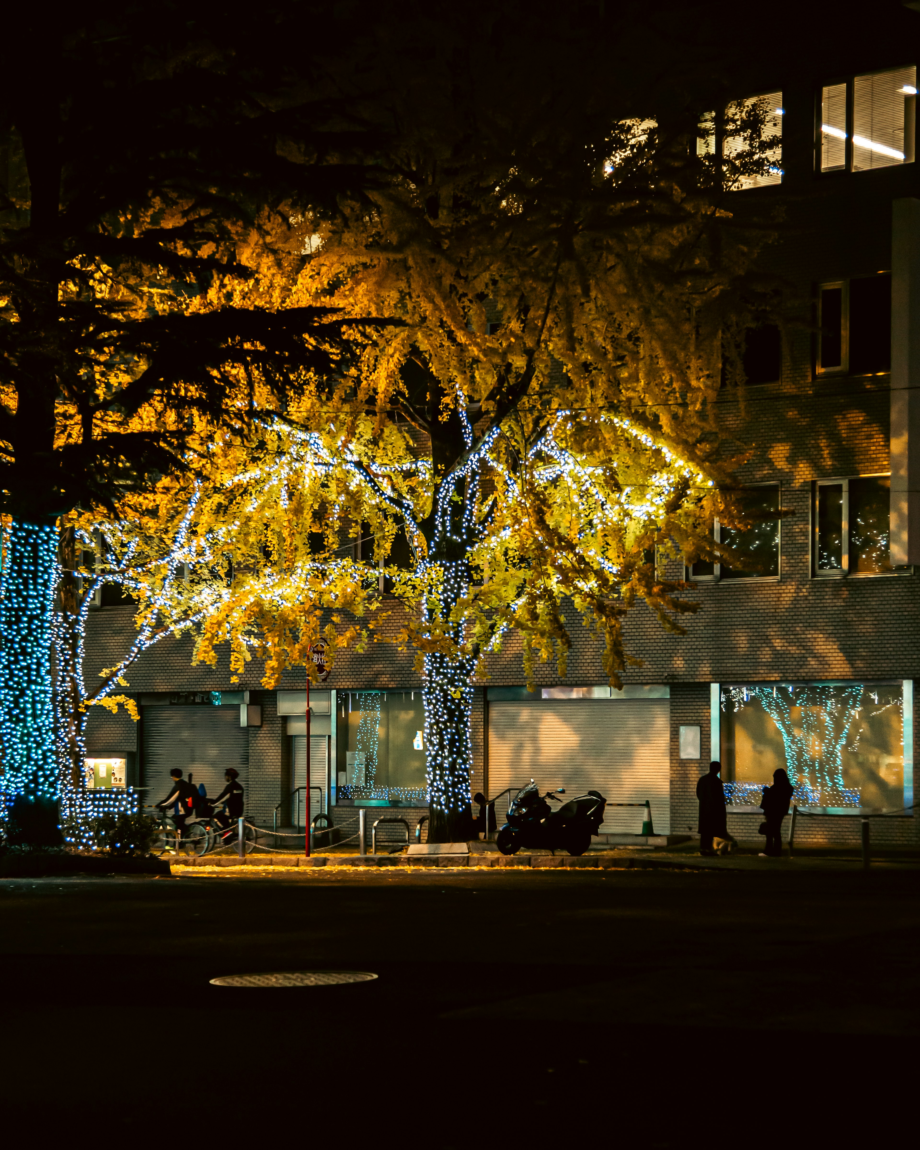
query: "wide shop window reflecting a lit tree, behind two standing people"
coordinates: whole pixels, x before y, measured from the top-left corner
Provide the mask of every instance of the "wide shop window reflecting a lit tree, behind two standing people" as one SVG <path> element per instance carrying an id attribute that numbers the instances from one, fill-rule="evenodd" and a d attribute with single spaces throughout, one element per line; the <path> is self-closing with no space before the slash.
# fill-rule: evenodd
<path id="1" fill-rule="evenodd" d="M 913 803 L 911 680 L 722 684 L 719 736 L 730 806 L 759 806 L 780 768 L 799 806 L 897 811 Z"/>

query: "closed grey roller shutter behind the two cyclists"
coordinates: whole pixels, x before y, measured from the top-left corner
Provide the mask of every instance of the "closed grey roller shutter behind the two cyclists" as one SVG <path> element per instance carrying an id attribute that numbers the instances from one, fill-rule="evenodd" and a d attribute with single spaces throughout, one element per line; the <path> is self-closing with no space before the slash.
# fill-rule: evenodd
<path id="1" fill-rule="evenodd" d="M 145 803 L 169 793 L 169 772 L 178 767 L 215 798 L 224 789 L 224 770 L 233 767 L 248 807 L 250 733 L 239 726 L 239 707 L 145 707 L 141 764 Z"/>

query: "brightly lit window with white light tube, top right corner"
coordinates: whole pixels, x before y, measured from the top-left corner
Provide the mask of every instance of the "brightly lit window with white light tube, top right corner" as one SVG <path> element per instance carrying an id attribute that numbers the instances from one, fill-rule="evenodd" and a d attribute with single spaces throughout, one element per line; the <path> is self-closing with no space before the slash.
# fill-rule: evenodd
<path id="1" fill-rule="evenodd" d="M 821 171 L 867 171 L 912 162 L 915 106 L 915 67 L 823 87 Z"/>

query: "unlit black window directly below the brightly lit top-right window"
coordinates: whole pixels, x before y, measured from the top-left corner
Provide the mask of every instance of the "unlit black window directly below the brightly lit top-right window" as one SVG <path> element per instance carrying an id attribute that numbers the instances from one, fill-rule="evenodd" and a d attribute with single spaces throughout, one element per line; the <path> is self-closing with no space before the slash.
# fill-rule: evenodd
<path id="1" fill-rule="evenodd" d="M 891 370 L 891 276 L 879 273 L 818 289 L 819 375 Z"/>

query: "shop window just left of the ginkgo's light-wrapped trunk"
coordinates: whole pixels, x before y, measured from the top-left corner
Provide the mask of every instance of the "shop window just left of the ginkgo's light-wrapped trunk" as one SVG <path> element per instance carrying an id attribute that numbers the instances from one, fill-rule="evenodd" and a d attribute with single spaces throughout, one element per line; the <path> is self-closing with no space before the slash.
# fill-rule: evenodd
<path id="1" fill-rule="evenodd" d="M 421 691 L 338 691 L 336 800 L 427 806 Z"/>

